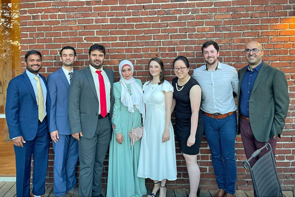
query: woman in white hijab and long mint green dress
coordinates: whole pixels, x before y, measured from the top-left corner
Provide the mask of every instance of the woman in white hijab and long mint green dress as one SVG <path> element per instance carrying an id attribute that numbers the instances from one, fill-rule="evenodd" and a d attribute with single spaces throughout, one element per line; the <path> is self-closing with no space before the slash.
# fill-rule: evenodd
<path id="1" fill-rule="evenodd" d="M 143 85 L 141 80 L 133 78 L 133 65 L 128 60 L 120 62 L 119 74 L 120 81 L 114 83 L 107 197 L 142 197 L 147 188 L 145 179 L 137 177 L 141 140 L 131 146 L 128 132 L 131 125 L 140 127 L 142 118 L 145 120 Z"/>

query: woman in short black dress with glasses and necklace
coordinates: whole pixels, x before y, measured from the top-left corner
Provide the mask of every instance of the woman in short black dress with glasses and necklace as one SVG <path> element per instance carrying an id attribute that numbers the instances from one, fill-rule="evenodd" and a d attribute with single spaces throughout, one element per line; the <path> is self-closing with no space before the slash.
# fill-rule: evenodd
<path id="1" fill-rule="evenodd" d="M 175 108 L 176 134 L 189 176 L 190 194 L 188 197 L 197 197 L 200 193 L 198 188 L 200 168 L 197 163 L 197 154 L 204 132 L 203 120 L 199 111 L 202 92 L 199 83 L 188 73 L 190 66 L 185 57 L 177 57 L 173 66 L 177 75 L 172 80 L 174 87 L 172 111 Z"/>

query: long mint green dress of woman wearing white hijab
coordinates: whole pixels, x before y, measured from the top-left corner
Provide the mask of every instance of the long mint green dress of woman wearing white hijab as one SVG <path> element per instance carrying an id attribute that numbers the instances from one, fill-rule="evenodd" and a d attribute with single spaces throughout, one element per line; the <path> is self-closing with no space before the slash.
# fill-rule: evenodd
<path id="1" fill-rule="evenodd" d="M 141 87 L 143 86 L 141 80 L 136 79 L 136 82 Z M 131 86 L 127 84 L 126 86 L 131 95 Z M 107 197 L 142 197 L 147 193 L 147 188 L 145 178 L 137 177 L 141 140 L 135 142 L 134 146 L 130 144 L 128 132 L 131 130 L 131 113 L 120 101 L 120 82 L 114 83 L 114 96 L 113 136 L 110 143 Z M 141 117 L 138 110 L 132 113 L 133 128 L 142 125 Z M 123 135 L 122 144 L 116 141 L 116 134 L 120 132 Z"/>

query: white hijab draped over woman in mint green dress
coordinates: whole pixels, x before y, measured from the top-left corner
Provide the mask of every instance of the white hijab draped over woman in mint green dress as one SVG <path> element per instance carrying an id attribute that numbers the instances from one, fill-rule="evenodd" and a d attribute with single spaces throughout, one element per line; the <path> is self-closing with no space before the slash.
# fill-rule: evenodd
<path id="1" fill-rule="evenodd" d="M 120 74 L 120 82 L 121 82 L 121 102 L 124 106 L 128 107 L 129 112 L 134 112 L 134 105 L 142 114 L 143 123 L 145 122 L 146 116 L 146 108 L 144 104 L 144 93 L 140 85 L 136 82 L 135 78 L 132 76 L 130 79 L 124 79 L 122 76 L 122 68 L 123 66 L 130 66 L 132 69 L 133 75 L 133 64 L 128 60 L 123 60 L 119 64 L 119 74 Z M 126 84 L 131 85 L 131 95 L 127 90 Z"/>

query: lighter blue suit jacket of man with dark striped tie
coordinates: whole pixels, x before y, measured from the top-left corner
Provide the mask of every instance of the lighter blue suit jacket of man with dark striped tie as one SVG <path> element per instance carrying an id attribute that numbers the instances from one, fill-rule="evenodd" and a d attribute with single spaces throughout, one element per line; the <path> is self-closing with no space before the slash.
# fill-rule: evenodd
<path id="1" fill-rule="evenodd" d="M 47 84 L 51 101 L 49 132 L 58 130 L 59 134 L 70 135 L 68 114 L 70 85 L 62 68 L 47 77 Z"/>

